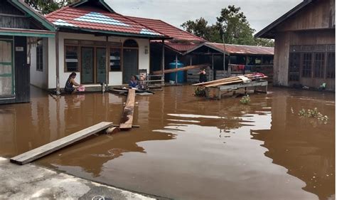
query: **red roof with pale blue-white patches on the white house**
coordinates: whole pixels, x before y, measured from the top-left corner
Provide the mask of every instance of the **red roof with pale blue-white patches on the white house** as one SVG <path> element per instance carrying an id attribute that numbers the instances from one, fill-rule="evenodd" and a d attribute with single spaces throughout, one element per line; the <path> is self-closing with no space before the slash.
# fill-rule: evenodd
<path id="1" fill-rule="evenodd" d="M 97 8 L 67 6 L 48 14 L 46 19 L 55 26 L 62 28 L 78 28 L 85 31 L 124 33 L 156 38 L 165 36 L 121 14 Z"/>

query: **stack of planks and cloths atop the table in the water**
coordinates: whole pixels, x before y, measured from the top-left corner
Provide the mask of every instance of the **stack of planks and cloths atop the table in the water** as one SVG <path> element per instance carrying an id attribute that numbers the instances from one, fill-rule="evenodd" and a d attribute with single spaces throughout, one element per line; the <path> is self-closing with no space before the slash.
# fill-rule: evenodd
<path id="1" fill-rule="evenodd" d="M 249 78 L 250 80 L 254 81 L 255 80 L 255 76 L 253 75 L 245 75 L 245 78 Z M 260 79 L 267 79 L 267 76 L 262 76 L 259 77 Z M 205 83 L 196 83 L 193 84 L 194 86 L 202 86 L 205 88 L 210 88 L 210 87 L 216 87 L 216 86 L 220 86 L 220 85 L 232 85 L 232 84 L 239 84 L 239 83 L 244 83 L 244 78 L 239 77 L 239 76 L 235 76 L 235 77 L 230 77 L 230 78 L 222 78 L 219 80 L 213 80 L 213 81 L 208 81 Z"/>

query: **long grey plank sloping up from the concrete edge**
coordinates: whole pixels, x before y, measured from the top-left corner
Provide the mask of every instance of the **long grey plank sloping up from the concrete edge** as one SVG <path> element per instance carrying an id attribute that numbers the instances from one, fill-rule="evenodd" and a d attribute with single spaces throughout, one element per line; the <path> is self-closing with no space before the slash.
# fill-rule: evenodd
<path id="1" fill-rule="evenodd" d="M 16 157 L 12 157 L 10 160 L 16 164 L 26 164 L 28 162 L 32 162 L 33 160 L 39 159 L 47 154 L 57 151 L 63 147 L 68 146 L 69 144 L 73 144 L 79 140 L 82 140 L 85 137 L 93 135 L 97 132 L 107 129 L 113 125 L 112 122 L 100 122 L 97 125 L 93 125 L 91 127 L 87 127 L 84 130 L 80 130 L 79 132 L 75 132 L 72 135 L 68 135 L 59 140 L 55 140 L 48 144 L 45 144 L 36 149 L 32 149 L 31 151 L 20 154 Z"/>

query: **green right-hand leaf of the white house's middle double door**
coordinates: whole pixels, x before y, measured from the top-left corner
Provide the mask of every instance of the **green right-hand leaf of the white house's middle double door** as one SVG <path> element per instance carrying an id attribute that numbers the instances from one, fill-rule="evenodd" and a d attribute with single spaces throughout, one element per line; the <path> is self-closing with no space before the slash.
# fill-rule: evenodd
<path id="1" fill-rule="evenodd" d="M 107 52 L 105 48 L 96 48 L 96 83 L 107 83 Z"/>

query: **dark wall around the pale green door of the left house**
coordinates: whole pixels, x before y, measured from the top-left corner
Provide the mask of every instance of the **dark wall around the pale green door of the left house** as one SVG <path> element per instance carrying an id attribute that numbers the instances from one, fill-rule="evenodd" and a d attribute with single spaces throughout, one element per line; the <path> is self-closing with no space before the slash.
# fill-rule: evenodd
<path id="1" fill-rule="evenodd" d="M 16 47 L 23 47 L 23 51 L 15 51 Z M 30 69 L 26 64 L 26 55 L 26 37 L 14 37 L 15 98 L 2 100 L 0 98 L 0 104 L 30 101 Z"/>

